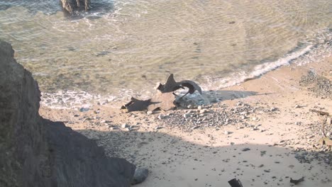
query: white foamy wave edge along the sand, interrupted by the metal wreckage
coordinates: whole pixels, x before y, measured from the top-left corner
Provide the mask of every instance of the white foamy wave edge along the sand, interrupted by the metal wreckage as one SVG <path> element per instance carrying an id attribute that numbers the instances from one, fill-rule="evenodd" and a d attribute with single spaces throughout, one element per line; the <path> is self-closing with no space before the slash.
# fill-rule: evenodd
<path id="1" fill-rule="evenodd" d="M 245 81 L 250 81 L 253 79 L 259 79 L 264 74 L 268 74 L 271 71 L 280 69 L 284 66 L 292 66 L 294 68 L 301 67 L 303 64 L 312 63 L 316 61 L 321 61 L 324 58 L 331 56 L 331 46 L 327 43 L 320 43 L 317 45 L 309 45 L 301 50 L 296 50 L 293 52 L 280 57 L 278 60 L 273 62 L 265 62 L 263 64 L 258 64 L 251 72 L 233 72 L 230 73 L 229 77 L 204 77 L 204 84 L 201 84 L 202 89 L 206 90 L 223 90 L 230 88 L 231 86 L 236 86 L 238 84 L 243 84 Z M 233 74 L 233 75 L 231 75 Z M 165 77 L 166 78 L 166 77 Z M 177 78 L 177 77 L 175 77 Z M 151 84 L 152 80 L 149 80 Z M 165 80 L 163 80 L 165 81 Z M 140 90 L 135 92 L 133 90 L 123 90 L 122 94 L 98 94 L 89 93 L 86 91 L 57 91 L 55 93 L 42 92 L 42 103 L 44 106 L 54 109 L 74 109 L 80 106 L 94 106 L 97 103 L 104 105 L 106 103 L 117 103 L 114 108 L 121 107 L 123 102 L 129 101 L 132 96 L 141 99 L 149 98 L 153 96 L 155 90 L 153 85 L 149 85 L 150 89 Z M 209 104 L 209 103 L 205 103 Z"/>

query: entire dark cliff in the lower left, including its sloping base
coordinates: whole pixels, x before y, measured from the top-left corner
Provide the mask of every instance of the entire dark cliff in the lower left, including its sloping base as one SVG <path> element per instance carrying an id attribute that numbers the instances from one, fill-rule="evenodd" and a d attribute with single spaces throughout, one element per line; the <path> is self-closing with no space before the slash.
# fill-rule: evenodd
<path id="1" fill-rule="evenodd" d="M 130 186 L 135 166 L 38 114 L 31 73 L 0 41 L 0 186 Z"/>

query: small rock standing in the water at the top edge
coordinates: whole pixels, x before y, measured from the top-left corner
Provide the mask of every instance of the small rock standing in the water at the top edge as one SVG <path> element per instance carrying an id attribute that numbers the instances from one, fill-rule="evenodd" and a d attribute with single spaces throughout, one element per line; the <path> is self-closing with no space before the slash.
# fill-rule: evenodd
<path id="1" fill-rule="evenodd" d="M 75 11 L 89 11 L 90 0 L 61 0 L 65 11 L 73 14 Z"/>

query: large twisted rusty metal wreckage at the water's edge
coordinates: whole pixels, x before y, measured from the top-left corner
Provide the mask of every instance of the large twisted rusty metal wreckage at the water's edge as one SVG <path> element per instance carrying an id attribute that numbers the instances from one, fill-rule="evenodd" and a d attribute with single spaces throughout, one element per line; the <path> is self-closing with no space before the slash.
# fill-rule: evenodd
<path id="1" fill-rule="evenodd" d="M 194 94 L 195 91 L 198 91 L 199 94 L 201 94 L 201 87 L 199 87 L 194 81 L 184 80 L 177 82 L 175 81 L 173 74 L 170 74 L 170 77 L 167 78 L 165 84 L 157 85 L 157 94 L 155 94 L 153 98 L 148 100 L 131 98 L 131 101 L 122 106 L 121 109 L 126 110 L 126 112 L 145 110 L 155 111 L 158 108 L 162 111 L 170 111 L 177 107 L 175 104 L 177 95 L 174 94 L 174 91 L 184 89 L 184 87 L 189 89 L 187 94 Z M 184 96 L 187 94 L 184 94 Z"/>

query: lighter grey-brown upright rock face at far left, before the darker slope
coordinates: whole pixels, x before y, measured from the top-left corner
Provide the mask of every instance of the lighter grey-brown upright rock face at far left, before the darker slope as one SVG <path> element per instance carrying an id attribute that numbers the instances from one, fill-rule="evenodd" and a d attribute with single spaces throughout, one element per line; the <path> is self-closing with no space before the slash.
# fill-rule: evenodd
<path id="1" fill-rule="evenodd" d="M 31 185 L 42 176 L 38 165 L 46 144 L 39 101 L 31 73 L 13 59 L 11 45 L 0 42 L 0 186 Z"/>

